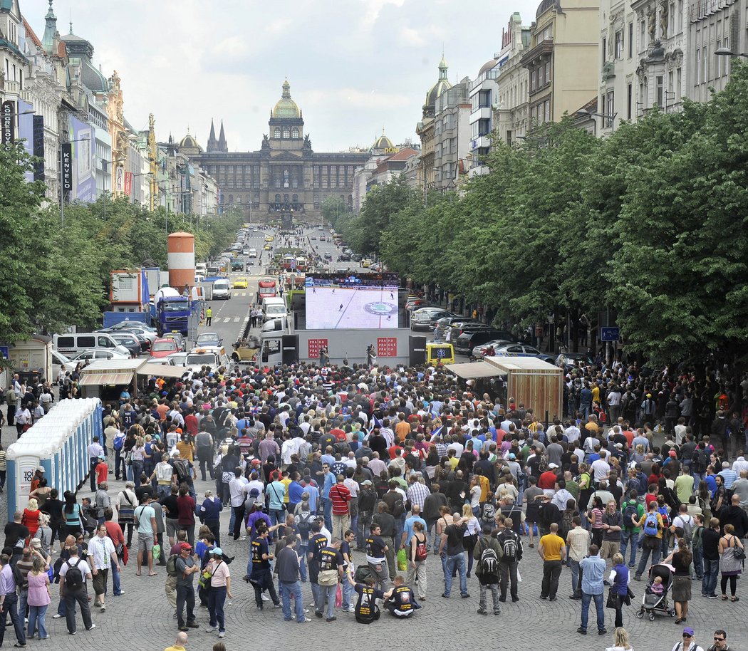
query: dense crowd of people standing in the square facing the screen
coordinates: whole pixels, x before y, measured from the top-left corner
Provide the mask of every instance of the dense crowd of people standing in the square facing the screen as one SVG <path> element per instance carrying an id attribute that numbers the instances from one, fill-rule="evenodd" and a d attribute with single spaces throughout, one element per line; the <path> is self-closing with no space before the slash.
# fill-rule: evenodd
<path id="1" fill-rule="evenodd" d="M 206 631 L 224 638 L 237 575 L 258 610 L 279 608 L 298 624 L 417 617 L 428 599 L 456 596 L 455 579 L 460 598 L 479 591 L 479 615 L 499 616 L 508 598 L 578 601 L 580 635 L 592 603 L 606 635 L 609 608 L 616 650 L 631 648 L 628 605 L 687 624 L 694 581 L 705 604 L 728 602 L 717 621 L 730 622 L 748 531 L 747 382 L 736 393 L 717 372 L 697 380 L 635 364 L 580 366 L 566 379 L 568 415 L 549 424 L 512 397 L 461 382 L 441 367 L 347 363 L 151 379 L 137 399 L 105 405 L 88 448 L 91 498 L 60 496 L 37 471 L 26 509 L 5 528 L 3 618 L 18 645 L 46 638 L 59 584 L 54 617 L 76 634 L 77 608 L 92 629 L 109 575 L 114 596 L 123 594 L 130 560 L 136 575 L 165 567 L 177 648 L 199 627 L 198 602 Z M 198 477 L 211 482 L 200 495 Z M 247 544 L 238 574 L 243 559 L 224 551 L 228 539 Z M 542 583 L 520 593 L 523 563 L 542 563 Z M 699 648 L 693 629 L 683 635 L 684 651 Z M 727 648 L 723 630 L 710 648 Z"/>

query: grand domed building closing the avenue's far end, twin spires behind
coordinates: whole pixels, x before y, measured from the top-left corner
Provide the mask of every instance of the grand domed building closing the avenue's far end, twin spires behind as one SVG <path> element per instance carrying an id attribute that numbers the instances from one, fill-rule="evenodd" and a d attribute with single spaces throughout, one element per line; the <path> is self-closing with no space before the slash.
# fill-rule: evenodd
<path id="1" fill-rule="evenodd" d="M 212 127 L 205 151 L 188 153 L 218 183 L 219 208 L 236 207 L 248 219 L 277 213 L 316 219 L 325 198 L 339 197 L 352 210 L 354 175 L 369 154 L 314 152 L 287 80 L 268 126 L 259 151 L 230 152 L 221 123 L 221 135 L 216 139 Z"/>

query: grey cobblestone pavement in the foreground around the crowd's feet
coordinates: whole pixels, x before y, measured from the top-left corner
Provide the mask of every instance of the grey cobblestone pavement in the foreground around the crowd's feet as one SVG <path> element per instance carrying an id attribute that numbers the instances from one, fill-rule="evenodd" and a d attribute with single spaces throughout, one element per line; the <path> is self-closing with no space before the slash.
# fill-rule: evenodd
<path id="1" fill-rule="evenodd" d="M 5 447 L 15 440 L 15 429 L 4 427 L 2 442 Z M 122 482 L 111 482 L 111 493 L 116 495 L 123 487 Z M 210 482 L 197 481 L 198 496 L 209 488 Z M 88 485 L 82 487 L 79 498 L 89 495 Z M 4 521 L 7 504 L 1 501 L 0 515 Z M 227 531 L 228 512 L 224 510 L 221 521 L 222 533 Z M 502 605 L 500 616 L 489 614 L 483 617 L 476 614 L 479 589 L 476 578 L 468 579 L 470 599 L 460 599 L 457 585 L 453 586 L 450 599 L 442 599 L 443 578 L 441 563 L 438 557 L 429 556 L 428 591 L 423 609 L 414 615 L 410 622 L 393 620 L 389 614 L 382 614 L 381 620 L 371 626 L 355 622 L 352 614 L 337 611 L 337 621 L 327 623 L 325 620 L 312 618 L 312 623 L 298 626 L 296 623 L 285 623 L 280 609 L 266 608 L 258 612 L 254 606 L 254 590 L 242 581 L 245 574 L 248 542 L 222 540 L 222 547 L 229 555 L 236 554 L 236 560 L 230 566 L 233 578 L 234 599 L 226 605 L 227 634 L 224 643 L 229 651 L 246 649 L 253 641 L 272 640 L 278 649 L 304 649 L 319 647 L 325 639 L 341 641 L 347 639 L 347 648 L 360 651 L 380 651 L 392 647 L 403 647 L 408 651 L 434 651 L 442 648 L 474 649 L 496 648 L 515 650 L 518 647 L 603 650 L 613 645 L 613 611 L 606 610 L 608 635 L 598 637 L 594 605 L 591 609 L 588 635 L 577 634 L 580 623 L 580 602 L 571 601 L 571 573 L 564 569 L 560 579 L 559 599 L 557 602 L 542 601 L 539 598 L 542 562 L 537 549 L 527 548 L 520 566 L 523 581 L 519 587 L 520 601 Z M 364 561 L 361 552 L 354 552 L 354 560 Z M 107 610 L 103 614 L 93 613 L 96 629 L 86 632 L 79 615 L 79 632 L 73 637 L 67 635 L 65 620 L 53 620 L 58 602 L 57 587 L 52 590 L 52 605 L 46 618 L 49 641 L 29 641 L 29 648 L 49 647 L 54 644 L 61 651 L 79 651 L 81 647 L 92 649 L 128 649 L 156 650 L 174 644 L 177 634 L 177 623 L 172 617 L 164 593 L 166 580 L 165 567 L 159 566 L 158 575 L 148 577 L 146 573 L 135 576 L 135 565 L 129 563 L 123 571 L 122 587 L 125 594 L 120 597 L 109 596 Z M 700 596 L 700 585 L 693 585 L 693 600 L 690 602 L 690 614 L 687 626 L 696 631 L 696 642 L 705 649 L 712 644 L 714 629 L 722 628 L 728 632 L 730 646 L 740 649 L 748 645 L 748 593 L 745 584 L 748 575 L 738 581 L 738 595 L 741 601 L 722 602 L 708 600 Z M 743 584 L 743 585 L 741 585 Z M 111 579 L 110 579 L 111 586 Z M 632 590 L 637 597 L 632 605 L 625 608 L 624 625 L 631 635 L 631 644 L 635 651 L 666 650 L 681 641 L 681 626 L 675 626 L 670 617 L 657 617 L 653 622 L 649 618 L 639 620 L 634 617 L 645 584 L 631 582 Z M 312 602 L 309 584 L 302 584 L 304 602 Z M 490 594 L 488 595 L 490 599 Z M 198 602 L 199 603 L 199 602 Z M 489 602 L 490 604 L 490 602 Z M 95 609 L 96 611 L 98 609 Z M 207 624 L 207 611 L 198 608 L 197 621 L 204 628 Z M 194 629 L 189 633 L 187 650 L 211 650 L 218 641 L 215 633 Z M 403 637 L 406 636 L 406 637 Z M 12 629 L 7 630 L 6 644 L 14 642 Z M 325 644 L 322 642 L 322 644 Z"/>

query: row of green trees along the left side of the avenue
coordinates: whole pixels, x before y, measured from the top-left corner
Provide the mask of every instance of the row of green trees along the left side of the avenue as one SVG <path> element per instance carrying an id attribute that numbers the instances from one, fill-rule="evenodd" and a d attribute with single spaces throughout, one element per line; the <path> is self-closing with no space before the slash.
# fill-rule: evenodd
<path id="1" fill-rule="evenodd" d="M 194 233 L 204 259 L 233 242 L 238 213 L 201 218 L 148 210 L 126 198 L 65 209 L 44 207 L 44 185 L 28 183 L 32 159 L 22 143 L 0 149 L 0 342 L 68 325 L 100 327 L 109 272 L 143 263 L 166 268 L 167 235 Z M 106 204 L 104 205 L 104 201 Z"/>

